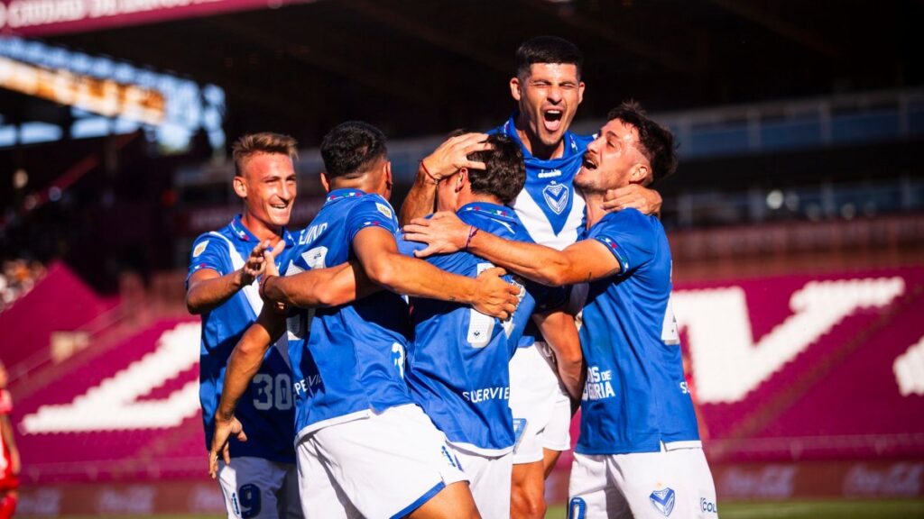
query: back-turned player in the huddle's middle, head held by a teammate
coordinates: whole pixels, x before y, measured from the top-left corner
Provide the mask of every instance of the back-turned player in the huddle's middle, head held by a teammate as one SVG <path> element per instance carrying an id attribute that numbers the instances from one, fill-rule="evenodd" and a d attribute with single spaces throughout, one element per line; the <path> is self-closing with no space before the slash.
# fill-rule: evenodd
<path id="1" fill-rule="evenodd" d="M 485 169 L 463 167 L 444 177 L 437 187 L 437 209 L 456 212 L 462 221 L 473 225 L 472 230 L 532 242 L 517 213 L 509 207 L 526 180 L 522 151 L 505 135 L 492 135 L 487 143 L 491 150 L 469 156 L 469 160 L 483 163 Z M 468 276 L 492 267 L 465 251 L 428 260 L 447 272 Z M 508 404 L 508 365 L 533 312 L 541 312 L 534 318 L 556 355 L 571 359 L 559 369 L 575 400 L 580 397 L 580 344 L 574 319 L 563 309 L 565 290 L 520 283 L 524 289 L 517 311 L 504 321 L 456 303 L 411 301 L 415 331 L 407 350 L 407 385 L 424 412 L 446 434 L 484 517 L 510 516 L 518 428 Z"/>

